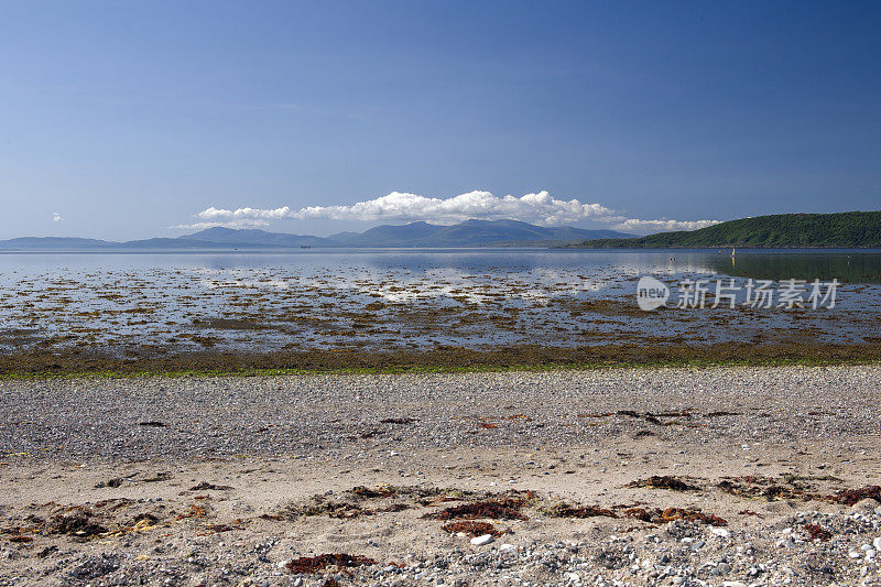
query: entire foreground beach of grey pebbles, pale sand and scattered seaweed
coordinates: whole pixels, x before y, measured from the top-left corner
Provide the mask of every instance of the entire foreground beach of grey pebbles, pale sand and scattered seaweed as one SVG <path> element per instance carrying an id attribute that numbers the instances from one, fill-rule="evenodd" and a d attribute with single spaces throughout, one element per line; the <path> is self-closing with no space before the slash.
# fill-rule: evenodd
<path id="1" fill-rule="evenodd" d="M 875 585 L 879 382 L 8 380 L 0 583 Z"/>

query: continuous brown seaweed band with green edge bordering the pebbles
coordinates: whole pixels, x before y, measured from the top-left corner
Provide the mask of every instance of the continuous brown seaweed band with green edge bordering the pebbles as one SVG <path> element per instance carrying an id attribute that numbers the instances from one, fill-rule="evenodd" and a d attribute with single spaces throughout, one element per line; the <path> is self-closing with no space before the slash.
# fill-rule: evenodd
<path id="1" fill-rule="evenodd" d="M 823 344 L 786 340 L 762 344 L 685 345 L 652 339 L 590 347 L 502 346 L 487 349 L 443 347 L 431 350 L 311 349 L 268 352 L 182 351 L 145 346 L 121 356 L 88 346 L 58 351 L 0 355 L 0 377 L 83 374 L 241 374 L 272 372 L 405 372 L 475 369 L 535 369 L 671 365 L 840 365 L 881 362 L 881 344 Z"/>

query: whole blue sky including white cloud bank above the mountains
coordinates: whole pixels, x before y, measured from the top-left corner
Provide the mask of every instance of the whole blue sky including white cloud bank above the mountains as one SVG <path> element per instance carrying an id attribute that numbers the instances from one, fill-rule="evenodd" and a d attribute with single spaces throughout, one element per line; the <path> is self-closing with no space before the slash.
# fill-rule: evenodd
<path id="1" fill-rule="evenodd" d="M 0 238 L 879 209 L 879 29 L 872 2 L 7 0 Z"/>

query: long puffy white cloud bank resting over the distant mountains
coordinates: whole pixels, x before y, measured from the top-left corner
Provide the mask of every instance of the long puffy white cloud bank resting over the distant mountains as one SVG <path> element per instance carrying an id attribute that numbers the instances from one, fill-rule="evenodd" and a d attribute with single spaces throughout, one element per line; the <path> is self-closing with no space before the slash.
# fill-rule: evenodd
<path id="1" fill-rule="evenodd" d="M 417 194 L 392 192 L 374 199 L 350 206 L 308 206 L 292 209 L 238 208 L 235 210 L 214 206 L 196 215 L 198 222 L 176 228 L 249 228 L 268 226 L 273 220 L 387 220 L 447 225 L 471 218 L 481 220 L 514 219 L 539 226 L 563 226 L 590 220 L 610 225 L 616 230 L 666 231 L 695 230 L 718 224 L 718 220 L 643 220 L 628 218 L 601 204 L 583 204 L 578 199 L 558 199 L 545 191 L 521 197 L 496 196 L 490 192 L 468 192 L 448 198 L 426 197 Z"/>

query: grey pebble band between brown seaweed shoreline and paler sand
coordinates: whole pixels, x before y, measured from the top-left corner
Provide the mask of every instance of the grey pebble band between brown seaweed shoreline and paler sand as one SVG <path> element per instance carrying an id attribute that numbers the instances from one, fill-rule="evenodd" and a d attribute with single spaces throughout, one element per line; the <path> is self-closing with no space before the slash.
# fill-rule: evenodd
<path id="1" fill-rule="evenodd" d="M 10 380 L 0 382 L 0 453 L 113 461 L 391 442 L 564 446 L 641 430 L 696 442 L 825 441 L 879 433 L 880 382 L 877 366 Z M 656 425 L 622 411 L 689 415 Z M 613 415 L 591 417 L 600 414 Z M 412 422 L 382 422 L 393 418 Z M 710 421 L 725 426 L 698 426 Z"/>

